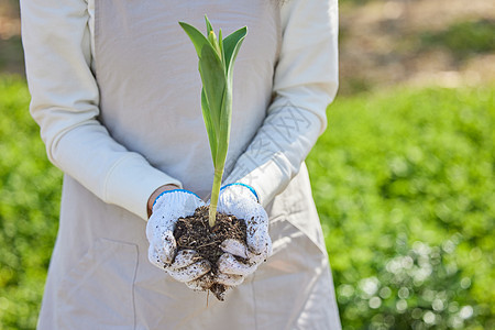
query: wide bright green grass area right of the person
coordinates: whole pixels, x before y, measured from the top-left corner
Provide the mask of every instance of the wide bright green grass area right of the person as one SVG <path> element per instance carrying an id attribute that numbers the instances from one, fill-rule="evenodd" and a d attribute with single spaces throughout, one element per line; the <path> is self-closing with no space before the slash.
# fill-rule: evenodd
<path id="1" fill-rule="evenodd" d="M 494 90 L 330 107 L 308 166 L 345 329 L 495 326 Z"/>

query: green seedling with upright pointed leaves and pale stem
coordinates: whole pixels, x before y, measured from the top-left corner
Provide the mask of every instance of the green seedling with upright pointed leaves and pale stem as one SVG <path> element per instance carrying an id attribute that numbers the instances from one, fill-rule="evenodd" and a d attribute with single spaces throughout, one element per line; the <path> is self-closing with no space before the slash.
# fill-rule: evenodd
<path id="1" fill-rule="evenodd" d="M 222 38 L 222 31 L 219 31 L 217 37 L 206 15 L 205 20 L 206 36 L 193 25 L 184 22 L 179 22 L 179 24 L 191 40 L 199 58 L 198 68 L 202 82 L 201 110 L 215 167 L 209 210 L 209 224 L 213 227 L 227 150 L 229 148 L 233 64 L 248 34 L 248 28 L 239 29 Z"/>

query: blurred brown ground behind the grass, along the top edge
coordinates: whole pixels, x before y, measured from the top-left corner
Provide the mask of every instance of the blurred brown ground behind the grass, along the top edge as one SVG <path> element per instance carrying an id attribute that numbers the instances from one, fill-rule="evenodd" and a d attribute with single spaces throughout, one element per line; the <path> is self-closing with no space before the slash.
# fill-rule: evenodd
<path id="1" fill-rule="evenodd" d="M 355 4 L 364 2 L 364 4 Z M 341 95 L 403 85 L 484 84 L 495 80 L 494 52 L 459 58 L 449 48 L 425 46 L 421 35 L 459 22 L 485 20 L 493 26 L 491 0 L 341 1 Z M 19 4 L 0 3 L 0 74 L 23 74 Z"/>

